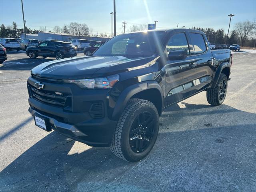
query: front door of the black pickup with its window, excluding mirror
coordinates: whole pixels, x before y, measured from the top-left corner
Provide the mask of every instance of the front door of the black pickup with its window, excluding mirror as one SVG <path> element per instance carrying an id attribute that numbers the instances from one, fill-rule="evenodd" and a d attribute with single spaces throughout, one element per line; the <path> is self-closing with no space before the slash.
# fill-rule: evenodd
<path id="1" fill-rule="evenodd" d="M 188 34 L 179 32 L 173 34 L 166 45 L 166 52 L 176 50 L 186 50 L 187 58 L 183 60 L 167 60 L 164 66 L 165 71 L 165 106 L 174 104 L 191 95 L 189 88 L 196 79 L 196 59 L 191 56 L 194 54 Z"/>

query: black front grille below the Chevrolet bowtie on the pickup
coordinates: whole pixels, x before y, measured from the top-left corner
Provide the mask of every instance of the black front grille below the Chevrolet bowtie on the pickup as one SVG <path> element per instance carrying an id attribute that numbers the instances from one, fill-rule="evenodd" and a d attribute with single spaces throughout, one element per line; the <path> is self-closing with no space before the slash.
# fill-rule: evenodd
<path id="1" fill-rule="evenodd" d="M 40 102 L 58 106 L 60 108 L 65 108 L 71 110 L 71 94 L 59 93 L 54 91 L 48 91 L 43 89 L 37 89 L 33 86 L 29 86 L 31 90 L 32 97 Z"/>

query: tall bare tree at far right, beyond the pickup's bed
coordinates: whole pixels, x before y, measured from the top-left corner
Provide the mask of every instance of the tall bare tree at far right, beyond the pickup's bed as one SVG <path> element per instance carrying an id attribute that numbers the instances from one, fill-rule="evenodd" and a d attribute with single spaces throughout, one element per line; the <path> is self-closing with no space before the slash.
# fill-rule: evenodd
<path id="1" fill-rule="evenodd" d="M 244 43 L 246 42 L 248 36 L 250 35 L 250 32 L 252 31 L 252 22 L 250 22 L 249 20 L 244 22 L 238 22 L 235 25 L 235 30 L 241 39 L 242 46 L 244 46 Z"/>

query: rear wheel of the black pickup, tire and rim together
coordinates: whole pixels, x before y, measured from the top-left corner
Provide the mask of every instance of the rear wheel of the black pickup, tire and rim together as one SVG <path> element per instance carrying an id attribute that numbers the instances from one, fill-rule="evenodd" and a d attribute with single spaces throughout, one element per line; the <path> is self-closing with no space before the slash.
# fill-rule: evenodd
<path id="1" fill-rule="evenodd" d="M 209 88 L 206 92 L 208 103 L 213 106 L 221 105 L 226 98 L 227 90 L 228 78 L 222 73 L 216 86 L 213 89 Z"/>

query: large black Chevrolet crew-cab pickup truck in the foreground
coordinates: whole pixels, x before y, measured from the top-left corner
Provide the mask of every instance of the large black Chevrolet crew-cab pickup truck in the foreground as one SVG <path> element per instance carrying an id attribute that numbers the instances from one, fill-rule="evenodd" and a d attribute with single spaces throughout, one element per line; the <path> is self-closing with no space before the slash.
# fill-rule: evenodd
<path id="1" fill-rule="evenodd" d="M 229 49 L 210 50 L 190 29 L 121 34 L 92 56 L 50 61 L 31 70 L 27 87 L 35 124 L 89 146 L 110 146 L 129 162 L 144 158 L 158 136 L 163 108 L 199 92 L 223 103 Z"/>

